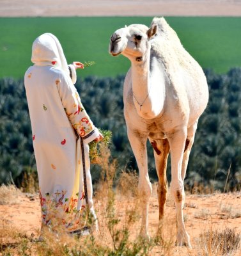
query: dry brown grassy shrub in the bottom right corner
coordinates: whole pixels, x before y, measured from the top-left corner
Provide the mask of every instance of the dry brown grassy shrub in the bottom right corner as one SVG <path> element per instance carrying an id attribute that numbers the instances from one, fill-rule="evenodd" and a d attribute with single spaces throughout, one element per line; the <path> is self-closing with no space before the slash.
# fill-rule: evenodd
<path id="1" fill-rule="evenodd" d="M 201 256 L 231 256 L 235 255 L 240 244 L 240 235 L 234 228 L 226 228 L 222 231 L 212 230 L 199 237 L 199 247 Z"/>

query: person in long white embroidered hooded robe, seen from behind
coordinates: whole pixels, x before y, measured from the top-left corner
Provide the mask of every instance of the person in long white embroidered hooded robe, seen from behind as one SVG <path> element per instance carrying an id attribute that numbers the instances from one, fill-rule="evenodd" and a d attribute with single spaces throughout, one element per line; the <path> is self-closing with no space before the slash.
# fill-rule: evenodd
<path id="1" fill-rule="evenodd" d="M 80 62 L 68 65 L 58 38 L 51 33 L 33 42 L 24 76 L 33 133 L 43 227 L 68 234 L 86 226 L 88 208 L 95 220 L 88 143 L 103 136 L 89 118 L 74 86 Z M 59 225 L 61 223 L 61 225 Z"/>

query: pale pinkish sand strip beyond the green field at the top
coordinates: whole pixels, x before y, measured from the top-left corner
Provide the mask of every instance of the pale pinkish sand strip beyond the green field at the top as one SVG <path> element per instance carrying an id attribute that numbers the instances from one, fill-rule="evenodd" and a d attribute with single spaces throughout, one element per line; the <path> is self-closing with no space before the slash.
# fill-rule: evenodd
<path id="1" fill-rule="evenodd" d="M 1 0 L 0 17 L 240 16 L 240 0 Z"/>

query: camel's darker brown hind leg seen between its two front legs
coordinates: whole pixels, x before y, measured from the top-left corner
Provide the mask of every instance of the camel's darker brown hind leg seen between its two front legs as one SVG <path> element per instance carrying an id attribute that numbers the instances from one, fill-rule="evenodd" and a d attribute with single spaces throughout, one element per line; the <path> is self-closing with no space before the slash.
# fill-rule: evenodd
<path id="1" fill-rule="evenodd" d="M 159 228 L 158 234 L 162 237 L 162 227 L 164 219 L 164 209 L 166 205 L 166 194 L 167 194 L 167 179 L 166 179 L 166 168 L 167 158 L 170 152 L 169 142 L 167 139 L 152 141 L 152 147 L 154 149 L 155 166 L 159 179 L 157 187 L 157 196 L 159 202 Z"/>

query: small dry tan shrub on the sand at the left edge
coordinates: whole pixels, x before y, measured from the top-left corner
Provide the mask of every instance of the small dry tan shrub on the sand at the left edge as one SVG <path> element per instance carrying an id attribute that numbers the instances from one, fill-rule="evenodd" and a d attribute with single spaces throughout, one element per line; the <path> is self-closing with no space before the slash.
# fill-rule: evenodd
<path id="1" fill-rule="evenodd" d="M 0 205 L 19 204 L 19 196 L 21 191 L 13 185 L 0 186 Z"/>

